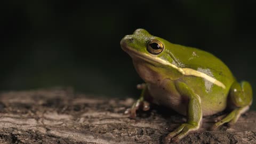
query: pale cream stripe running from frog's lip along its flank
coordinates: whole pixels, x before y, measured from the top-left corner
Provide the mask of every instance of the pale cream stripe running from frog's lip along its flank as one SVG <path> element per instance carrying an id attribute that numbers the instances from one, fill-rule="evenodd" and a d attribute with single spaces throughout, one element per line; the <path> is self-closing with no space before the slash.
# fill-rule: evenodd
<path id="1" fill-rule="evenodd" d="M 177 69 L 183 75 L 202 77 L 202 78 L 206 79 L 207 81 L 209 81 L 209 82 L 211 82 L 215 85 L 218 85 L 218 86 L 222 87 L 223 89 L 226 89 L 226 86 L 223 83 L 221 83 L 220 81 L 218 81 L 217 79 L 215 79 L 215 78 L 213 78 L 209 75 L 206 75 L 206 74 L 202 73 L 201 71 L 197 71 L 197 70 L 191 69 L 191 68 L 179 68 L 179 67 L 173 65 L 172 63 L 170 63 L 169 61 L 158 58 L 155 55 L 141 53 L 139 51 L 131 49 L 128 46 L 126 46 L 126 51 L 129 51 L 129 53 L 132 53 L 132 55 L 134 55 L 135 57 L 139 57 L 143 60 L 154 61 L 154 62 L 161 63 L 162 65 L 170 66 L 174 69 Z"/>

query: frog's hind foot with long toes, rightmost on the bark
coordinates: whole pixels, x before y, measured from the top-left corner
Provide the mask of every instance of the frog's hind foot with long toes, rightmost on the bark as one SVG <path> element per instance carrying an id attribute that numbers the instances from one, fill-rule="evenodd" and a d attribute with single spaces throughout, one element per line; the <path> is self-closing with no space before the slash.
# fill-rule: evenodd
<path id="1" fill-rule="evenodd" d="M 249 106 L 237 108 L 233 110 L 230 114 L 228 114 L 225 118 L 221 119 L 221 121 L 215 123 L 211 130 L 217 129 L 219 126 L 228 123 L 228 125 L 234 125 L 237 121 L 237 119 L 241 116 L 241 114 L 245 113 L 249 109 Z"/>

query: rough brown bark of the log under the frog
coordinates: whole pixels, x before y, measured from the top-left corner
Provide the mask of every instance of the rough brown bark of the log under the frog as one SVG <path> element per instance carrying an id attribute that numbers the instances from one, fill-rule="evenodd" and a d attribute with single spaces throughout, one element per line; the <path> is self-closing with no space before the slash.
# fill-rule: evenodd
<path id="1" fill-rule="evenodd" d="M 0 143 L 163 143 L 186 121 L 156 106 L 130 119 L 123 113 L 133 99 L 93 98 L 72 89 L 5 92 L 0 101 Z M 255 111 L 210 131 L 220 115 L 203 118 L 202 129 L 179 143 L 256 143 Z"/>

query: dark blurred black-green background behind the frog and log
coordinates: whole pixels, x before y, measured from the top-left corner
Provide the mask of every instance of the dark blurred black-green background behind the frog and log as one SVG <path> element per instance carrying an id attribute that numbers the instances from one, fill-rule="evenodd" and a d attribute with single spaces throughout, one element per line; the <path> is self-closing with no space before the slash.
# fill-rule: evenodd
<path id="1" fill-rule="evenodd" d="M 137 98 L 143 81 L 120 47 L 137 28 L 217 55 L 256 92 L 255 1 L 3 1 L 0 90 L 72 86 Z M 255 103 L 255 102 L 254 102 Z M 255 104 L 254 104 L 255 109 Z"/>

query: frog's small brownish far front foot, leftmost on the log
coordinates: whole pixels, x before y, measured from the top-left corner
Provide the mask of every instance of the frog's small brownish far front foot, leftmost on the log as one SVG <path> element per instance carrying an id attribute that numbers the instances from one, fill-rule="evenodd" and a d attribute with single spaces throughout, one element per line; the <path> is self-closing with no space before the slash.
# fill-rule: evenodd
<path id="1" fill-rule="evenodd" d="M 150 109 L 149 103 L 147 101 L 143 101 L 139 99 L 133 103 L 131 108 L 126 109 L 124 114 L 129 114 L 131 118 L 135 118 L 137 116 L 136 111 L 139 108 L 142 108 L 142 110 L 147 111 Z"/>

